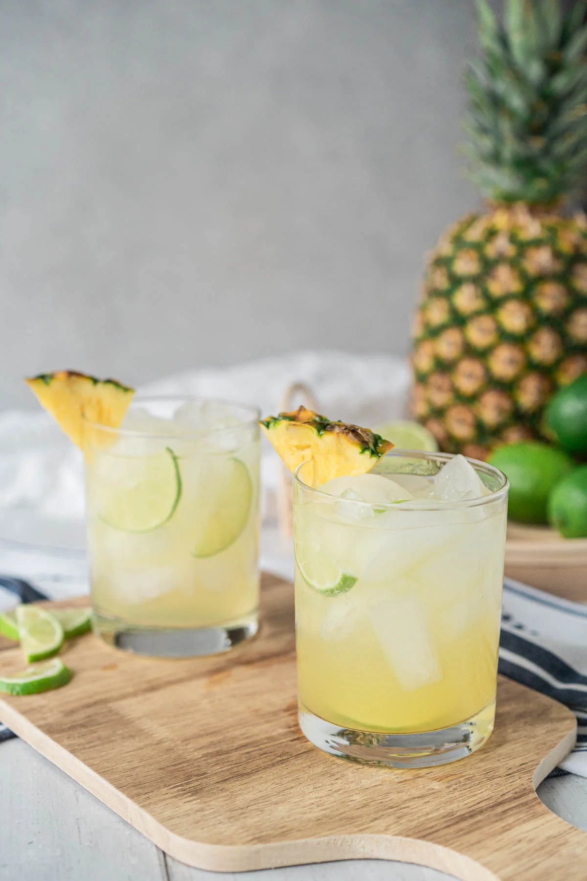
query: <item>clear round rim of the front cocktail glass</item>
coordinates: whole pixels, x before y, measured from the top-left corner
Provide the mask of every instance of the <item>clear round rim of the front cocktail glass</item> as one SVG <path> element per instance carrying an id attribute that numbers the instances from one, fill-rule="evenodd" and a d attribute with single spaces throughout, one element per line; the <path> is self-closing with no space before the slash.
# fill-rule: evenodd
<path id="1" fill-rule="evenodd" d="M 414 459 L 414 458 L 416 458 L 416 459 L 432 459 L 432 460 L 440 459 L 440 460 L 444 460 L 444 463 L 446 463 L 446 462 L 450 462 L 451 459 L 454 459 L 456 455 L 459 455 L 459 454 L 458 453 L 441 453 L 441 452 L 434 453 L 431 450 L 422 450 L 422 449 L 399 449 L 394 452 L 392 449 L 389 451 L 389 453 L 386 453 L 385 456 L 382 456 L 381 458 L 384 459 L 384 458 L 387 458 L 387 456 L 390 456 L 390 457 L 411 458 L 411 459 Z M 485 471 L 485 473 L 487 473 L 487 474 L 491 474 L 493 476 L 501 478 L 503 481 L 503 485 L 500 486 L 499 489 L 494 490 L 494 492 L 489 492 L 488 495 L 480 496 L 479 499 L 465 499 L 465 500 L 459 500 L 459 501 L 438 502 L 438 503 L 436 503 L 436 500 L 430 500 L 429 505 L 427 505 L 426 507 L 422 507 L 422 505 L 410 505 L 410 501 L 412 501 L 412 500 L 406 500 L 406 501 L 402 501 L 402 502 L 397 502 L 397 501 L 391 501 L 391 502 L 378 502 L 377 501 L 377 502 L 375 502 L 375 501 L 364 501 L 364 500 L 359 500 L 359 499 L 344 499 L 344 502 L 345 502 L 345 504 L 351 504 L 351 505 L 363 505 L 363 506 L 367 506 L 367 507 L 376 506 L 378 508 L 384 508 L 385 510 L 389 510 L 389 511 L 397 510 L 398 505 L 401 505 L 400 511 L 422 511 L 422 510 L 426 510 L 426 511 L 451 511 L 451 510 L 460 510 L 461 508 L 464 508 L 464 507 L 478 507 L 480 505 L 489 505 L 489 504 L 491 504 L 491 502 L 500 501 L 503 499 L 504 496 L 507 496 L 508 490 L 510 489 L 510 481 L 505 476 L 503 471 L 500 471 L 498 468 L 495 468 L 495 465 L 490 465 L 487 462 L 481 462 L 481 459 L 472 459 L 468 455 L 464 456 L 463 458 L 465 458 L 468 463 L 472 464 L 473 468 L 475 470 L 482 470 L 482 471 Z M 381 461 L 381 460 L 379 460 L 379 461 Z M 318 487 L 309 486 L 308 484 L 304 483 L 301 476 L 298 474 L 298 471 L 300 471 L 304 467 L 305 464 L 307 464 L 307 460 L 306 460 L 306 462 L 300 463 L 297 466 L 296 470 L 294 471 L 294 473 L 293 473 L 294 483 L 301 486 L 304 490 L 307 490 L 308 492 L 315 492 L 317 495 L 322 496 L 324 499 L 336 499 L 336 500 L 340 501 L 341 496 L 334 495 L 334 493 L 332 493 L 332 492 L 324 492 L 323 490 L 320 489 L 319 486 Z M 367 473 L 370 473 L 370 472 L 367 472 Z M 401 472 L 398 471 L 397 473 L 400 474 Z M 422 478 L 427 477 L 427 475 L 424 475 L 424 474 L 422 474 L 422 475 L 416 474 L 413 476 L 414 477 L 422 477 Z M 390 474 L 389 478 L 391 478 L 393 480 L 393 474 Z M 424 500 L 418 500 L 418 501 L 424 501 Z"/>

